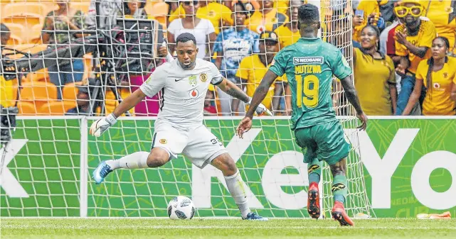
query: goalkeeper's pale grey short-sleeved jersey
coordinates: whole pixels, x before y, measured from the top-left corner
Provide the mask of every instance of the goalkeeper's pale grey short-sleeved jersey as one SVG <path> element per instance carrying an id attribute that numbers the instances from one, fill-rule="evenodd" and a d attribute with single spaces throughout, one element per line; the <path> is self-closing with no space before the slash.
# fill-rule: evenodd
<path id="1" fill-rule="evenodd" d="M 166 62 L 150 75 L 140 89 L 149 97 L 162 92 L 157 123 L 168 122 L 188 130 L 203 124 L 203 108 L 209 84 L 223 80 L 216 65 L 196 59 L 193 70 L 184 70 L 177 60 Z"/>

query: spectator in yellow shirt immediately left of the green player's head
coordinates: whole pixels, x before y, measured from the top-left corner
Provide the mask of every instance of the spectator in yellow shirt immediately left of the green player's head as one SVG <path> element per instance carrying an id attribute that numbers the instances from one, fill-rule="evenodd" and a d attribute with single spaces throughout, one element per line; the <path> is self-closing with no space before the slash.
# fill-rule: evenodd
<path id="1" fill-rule="evenodd" d="M 288 45 L 296 43 L 297 40 L 301 38 L 301 35 L 299 35 L 299 29 L 297 28 L 297 11 L 299 9 L 299 6 L 302 4 L 302 0 L 290 1 L 290 8 L 287 11 L 287 16 L 290 20 L 274 30 L 275 33 L 277 33 L 277 37 L 279 38 L 280 50 Z"/>

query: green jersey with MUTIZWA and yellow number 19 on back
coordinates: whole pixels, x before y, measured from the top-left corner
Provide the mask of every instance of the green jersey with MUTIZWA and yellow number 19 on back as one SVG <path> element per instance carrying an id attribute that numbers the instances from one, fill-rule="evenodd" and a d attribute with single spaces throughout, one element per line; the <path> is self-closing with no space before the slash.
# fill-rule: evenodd
<path id="1" fill-rule="evenodd" d="M 344 79 L 351 68 L 339 49 L 320 38 L 300 38 L 281 50 L 269 70 L 287 74 L 292 91 L 292 130 L 336 121 L 332 106 L 333 74 Z"/>

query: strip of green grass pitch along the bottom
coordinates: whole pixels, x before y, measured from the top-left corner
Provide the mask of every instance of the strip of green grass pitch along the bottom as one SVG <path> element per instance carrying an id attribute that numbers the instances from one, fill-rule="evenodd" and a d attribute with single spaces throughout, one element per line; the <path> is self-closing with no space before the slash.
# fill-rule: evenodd
<path id="1" fill-rule="evenodd" d="M 341 228 L 332 220 L 272 219 L 84 219 L 0 218 L 0 238 L 456 238 L 456 220 L 355 220 Z"/>

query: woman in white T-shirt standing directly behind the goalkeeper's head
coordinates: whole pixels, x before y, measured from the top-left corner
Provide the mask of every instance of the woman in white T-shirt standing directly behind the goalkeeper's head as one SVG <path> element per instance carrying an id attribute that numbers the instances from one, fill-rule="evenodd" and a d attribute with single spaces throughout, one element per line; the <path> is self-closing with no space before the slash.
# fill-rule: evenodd
<path id="1" fill-rule="evenodd" d="M 196 17 L 196 10 L 199 1 L 182 1 L 185 11 L 185 18 L 178 18 L 168 26 L 169 50 L 174 52 L 176 49 L 176 38 L 182 33 L 191 33 L 196 38 L 198 48 L 198 58 L 211 60 L 211 50 L 217 35 L 211 21 Z"/>

